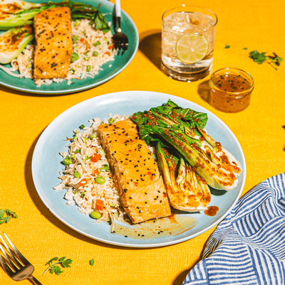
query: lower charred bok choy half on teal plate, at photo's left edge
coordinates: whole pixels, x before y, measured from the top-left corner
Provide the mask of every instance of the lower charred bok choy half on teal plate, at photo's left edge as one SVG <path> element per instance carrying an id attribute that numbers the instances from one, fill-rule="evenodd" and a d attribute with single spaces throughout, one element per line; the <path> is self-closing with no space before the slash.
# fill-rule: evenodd
<path id="1" fill-rule="evenodd" d="M 0 34 L 0 63 L 11 63 L 33 40 L 31 26 L 12 28 Z"/>

